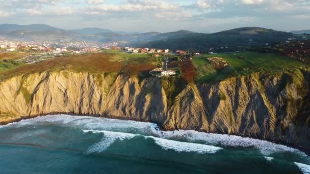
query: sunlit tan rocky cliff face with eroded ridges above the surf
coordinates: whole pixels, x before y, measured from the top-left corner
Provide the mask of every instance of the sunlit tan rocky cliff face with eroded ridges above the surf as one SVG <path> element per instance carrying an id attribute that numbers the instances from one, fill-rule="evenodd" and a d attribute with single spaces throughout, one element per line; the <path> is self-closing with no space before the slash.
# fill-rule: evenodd
<path id="1" fill-rule="evenodd" d="M 267 139 L 310 152 L 308 70 L 176 83 L 67 71 L 13 77 L 0 83 L 0 121 L 49 113 L 101 115 L 154 122 L 167 130 Z"/>

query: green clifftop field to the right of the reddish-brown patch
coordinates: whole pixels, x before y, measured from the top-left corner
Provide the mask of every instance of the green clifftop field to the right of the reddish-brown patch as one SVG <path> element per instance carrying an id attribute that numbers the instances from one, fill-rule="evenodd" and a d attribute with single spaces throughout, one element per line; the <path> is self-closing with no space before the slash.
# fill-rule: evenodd
<path id="1" fill-rule="evenodd" d="M 216 70 L 206 59 L 208 57 L 222 57 L 229 64 L 229 67 L 223 70 Z M 254 72 L 268 73 L 305 66 L 290 57 L 275 53 L 250 51 L 194 56 L 193 62 L 197 69 L 196 80 L 201 83 L 219 81 L 227 77 L 246 75 Z"/>

